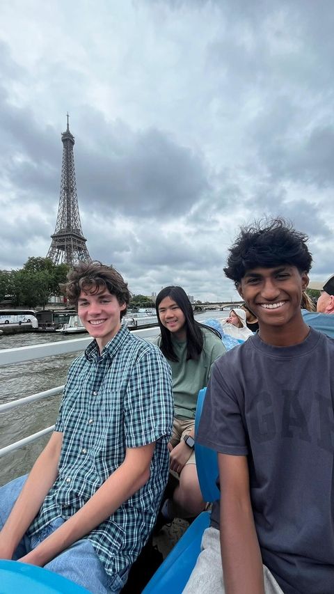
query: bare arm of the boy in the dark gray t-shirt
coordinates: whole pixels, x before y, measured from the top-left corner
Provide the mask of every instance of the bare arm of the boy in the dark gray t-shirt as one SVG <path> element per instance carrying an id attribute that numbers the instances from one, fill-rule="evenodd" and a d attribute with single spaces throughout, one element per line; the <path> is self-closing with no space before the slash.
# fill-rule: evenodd
<path id="1" fill-rule="evenodd" d="M 262 557 L 250 503 L 247 458 L 218 453 L 221 558 L 226 594 L 264 594 Z"/>

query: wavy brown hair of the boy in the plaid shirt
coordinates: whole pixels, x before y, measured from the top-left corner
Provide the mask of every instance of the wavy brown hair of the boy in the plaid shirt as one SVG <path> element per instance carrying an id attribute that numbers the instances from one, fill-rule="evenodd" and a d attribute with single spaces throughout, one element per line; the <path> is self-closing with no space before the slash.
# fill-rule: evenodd
<path id="1" fill-rule="evenodd" d="M 120 305 L 129 304 L 131 293 L 121 274 L 113 266 L 107 266 L 95 260 L 93 262 L 80 262 L 67 274 L 67 283 L 61 288 L 70 304 L 77 306 L 81 290 L 95 295 L 106 288 L 111 295 L 115 295 Z M 120 317 L 127 313 L 127 308 L 121 311 Z"/>

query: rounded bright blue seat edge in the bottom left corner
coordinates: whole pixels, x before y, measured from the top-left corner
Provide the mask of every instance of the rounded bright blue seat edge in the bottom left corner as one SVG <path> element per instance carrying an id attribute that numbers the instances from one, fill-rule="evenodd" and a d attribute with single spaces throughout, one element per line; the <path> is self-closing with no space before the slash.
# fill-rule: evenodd
<path id="1" fill-rule="evenodd" d="M 19 561 L 0 560 L 0 584 L 1 594 L 89 594 L 70 579 Z"/>

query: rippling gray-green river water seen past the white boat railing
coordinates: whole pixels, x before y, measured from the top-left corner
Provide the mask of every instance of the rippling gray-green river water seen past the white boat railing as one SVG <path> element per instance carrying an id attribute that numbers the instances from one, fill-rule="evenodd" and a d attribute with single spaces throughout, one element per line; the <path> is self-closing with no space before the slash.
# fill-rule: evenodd
<path id="1" fill-rule="evenodd" d="M 212 311 L 196 315 L 196 320 L 200 322 L 207 318 L 225 318 L 227 315 L 227 312 Z M 159 329 L 155 327 L 141 330 L 140 336 L 152 341 L 152 338 L 158 333 Z M 79 337 L 84 336 L 86 334 L 79 335 Z M 72 334 L 70 336 L 30 332 L 13 334 L 0 336 L 0 349 L 54 343 L 73 338 Z M 69 353 L 0 367 L 0 403 L 65 384 L 67 370 L 75 356 L 76 353 Z M 60 401 L 61 394 L 58 394 L 0 413 L 0 448 L 53 425 L 57 418 Z M 0 485 L 29 472 L 49 437 L 50 434 L 0 458 Z"/>

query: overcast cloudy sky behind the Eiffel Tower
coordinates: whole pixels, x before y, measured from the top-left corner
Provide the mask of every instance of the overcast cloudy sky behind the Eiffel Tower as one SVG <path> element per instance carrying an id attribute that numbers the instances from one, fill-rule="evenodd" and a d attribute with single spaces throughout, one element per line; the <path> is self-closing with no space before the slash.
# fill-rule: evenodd
<path id="1" fill-rule="evenodd" d="M 332 0 L 1 0 L 0 268 L 46 256 L 70 114 L 90 256 L 134 293 L 234 296 L 265 215 L 334 272 Z"/>

